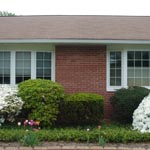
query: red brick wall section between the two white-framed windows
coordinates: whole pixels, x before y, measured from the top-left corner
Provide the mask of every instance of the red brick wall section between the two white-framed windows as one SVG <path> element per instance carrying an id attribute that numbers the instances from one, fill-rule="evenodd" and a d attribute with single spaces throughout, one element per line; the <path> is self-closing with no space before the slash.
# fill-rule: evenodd
<path id="1" fill-rule="evenodd" d="M 111 116 L 106 92 L 105 46 L 56 46 L 56 81 L 66 92 L 91 92 L 105 97 L 105 117 Z"/>

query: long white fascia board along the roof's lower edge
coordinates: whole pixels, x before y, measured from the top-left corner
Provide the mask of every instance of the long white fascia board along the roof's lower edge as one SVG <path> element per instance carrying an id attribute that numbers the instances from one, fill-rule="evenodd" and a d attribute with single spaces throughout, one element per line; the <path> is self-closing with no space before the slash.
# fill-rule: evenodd
<path id="1" fill-rule="evenodd" d="M 18 39 L 18 40 L 0 40 L 0 43 L 150 44 L 150 40 Z"/>

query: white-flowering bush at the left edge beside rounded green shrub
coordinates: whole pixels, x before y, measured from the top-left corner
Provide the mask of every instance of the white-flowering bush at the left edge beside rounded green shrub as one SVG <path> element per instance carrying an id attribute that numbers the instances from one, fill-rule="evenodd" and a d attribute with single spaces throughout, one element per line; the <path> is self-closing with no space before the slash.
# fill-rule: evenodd
<path id="1" fill-rule="evenodd" d="M 13 122 L 22 109 L 23 101 L 17 96 L 17 88 L 9 85 L 0 87 L 0 126 L 5 121 Z"/>

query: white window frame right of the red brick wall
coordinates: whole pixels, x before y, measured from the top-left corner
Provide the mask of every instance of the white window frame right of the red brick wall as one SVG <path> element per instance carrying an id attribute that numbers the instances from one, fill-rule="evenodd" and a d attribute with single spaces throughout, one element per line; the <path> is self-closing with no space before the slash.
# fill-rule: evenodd
<path id="1" fill-rule="evenodd" d="M 121 52 L 121 86 L 110 86 L 110 52 Z M 120 88 L 127 88 L 127 52 L 128 51 L 150 51 L 150 48 L 122 48 L 122 49 L 108 49 L 106 58 L 106 90 L 109 92 L 116 91 Z M 150 86 L 144 86 L 150 89 Z"/>

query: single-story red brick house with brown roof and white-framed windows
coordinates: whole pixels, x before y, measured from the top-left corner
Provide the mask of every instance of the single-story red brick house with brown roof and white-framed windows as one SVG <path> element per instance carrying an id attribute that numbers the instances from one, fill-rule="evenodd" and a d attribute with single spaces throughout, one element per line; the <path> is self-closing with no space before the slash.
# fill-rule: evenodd
<path id="1" fill-rule="evenodd" d="M 150 87 L 150 17 L 0 17 L 0 84 L 51 79 L 66 92 L 110 96 Z"/>

